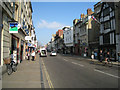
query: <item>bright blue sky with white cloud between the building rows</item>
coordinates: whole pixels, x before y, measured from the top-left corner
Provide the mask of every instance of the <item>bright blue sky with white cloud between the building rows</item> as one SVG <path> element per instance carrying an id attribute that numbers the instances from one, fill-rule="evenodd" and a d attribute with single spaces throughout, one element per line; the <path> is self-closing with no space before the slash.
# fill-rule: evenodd
<path id="1" fill-rule="evenodd" d="M 37 40 L 41 45 L 47 44 L 52 34 L 64 26 L 73 26 L 74 19 L 80 19 L 87 9 L 94 11 L 97 2 L 32 2 L 33 25 Z"/>

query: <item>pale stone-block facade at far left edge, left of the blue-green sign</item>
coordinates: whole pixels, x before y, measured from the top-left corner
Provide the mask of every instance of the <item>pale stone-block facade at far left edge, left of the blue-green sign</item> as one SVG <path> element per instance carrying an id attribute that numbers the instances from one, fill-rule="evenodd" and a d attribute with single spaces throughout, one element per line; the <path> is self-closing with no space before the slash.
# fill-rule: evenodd
<path id="1" fill-rule="evenodd" d="M 8 7 L 6 7 L 6 5 Z M 13 11 L 10 3 L 0 2 L 0 6 L 2 9 L 2 20 L 1 24 L 3 25 L 1 28 L 1 66 L 3 66 L 4 58 L 10 57 L 10 47 L 11 47 L 11 34 L 9 33 L 9 23 L 8 21 L 12 19 Z"/>

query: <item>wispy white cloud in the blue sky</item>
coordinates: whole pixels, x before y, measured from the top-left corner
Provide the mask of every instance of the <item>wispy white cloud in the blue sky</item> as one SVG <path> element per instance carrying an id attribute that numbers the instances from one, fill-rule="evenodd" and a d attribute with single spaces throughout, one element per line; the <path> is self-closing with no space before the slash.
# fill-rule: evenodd
<path id="1" fill-rule="evenodd" d="M 61 29 L 64 25 L 59 23 L 59 22 L 56 22 L 56 21 L 53 21 L 53 22 L 47 22 L 45 20 L 41 20 L 39 23 L 38 23 L 38 28 L 47 28 L 47 29 Z"/>

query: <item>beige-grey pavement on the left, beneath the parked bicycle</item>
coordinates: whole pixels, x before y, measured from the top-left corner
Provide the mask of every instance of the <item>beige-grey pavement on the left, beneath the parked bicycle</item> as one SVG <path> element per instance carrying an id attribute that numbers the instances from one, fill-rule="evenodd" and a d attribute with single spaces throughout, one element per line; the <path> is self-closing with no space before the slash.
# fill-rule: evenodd
<path id="1" fill-rule="evenodd" d="M 35 61 L 23 60 L 17 71 L 2 75 L 2 88 L 41 88 L 39 56 Z"/>

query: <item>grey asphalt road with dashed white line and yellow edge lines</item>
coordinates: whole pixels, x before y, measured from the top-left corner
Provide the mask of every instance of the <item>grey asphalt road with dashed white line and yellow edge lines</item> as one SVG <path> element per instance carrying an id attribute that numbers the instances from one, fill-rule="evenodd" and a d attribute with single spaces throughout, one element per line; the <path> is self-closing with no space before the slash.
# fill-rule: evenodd
<path id="1" fill-rule="evenodd" d="M 118 88 L 118 69 L 66 55 L 40 57 L 45 88 Z"/>

